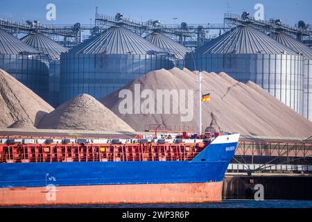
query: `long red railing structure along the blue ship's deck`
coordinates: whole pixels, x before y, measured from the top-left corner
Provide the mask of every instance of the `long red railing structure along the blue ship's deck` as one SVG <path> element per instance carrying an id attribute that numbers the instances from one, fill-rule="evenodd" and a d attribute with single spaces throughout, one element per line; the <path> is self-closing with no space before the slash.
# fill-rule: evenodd
<path id="1" fill-rule="evenodd" d="M 167 148 L 167 149 L 166 149 Z M 0 163 L 18 162 L 119 162 L 119 161 L 191 161 L 202 148 L 159 146 L 143 148 L 28 148 L 8 146 L 0 149 Z"/>

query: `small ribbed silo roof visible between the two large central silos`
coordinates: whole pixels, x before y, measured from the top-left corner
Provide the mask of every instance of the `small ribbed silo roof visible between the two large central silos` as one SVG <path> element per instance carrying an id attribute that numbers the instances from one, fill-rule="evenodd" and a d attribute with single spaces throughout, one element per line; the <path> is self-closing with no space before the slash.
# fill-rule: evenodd
<path id="1" fill-rule="evenodd" d="M 191 51 L 191 49 L 175 42 L 162 33 L 151 33 L 146 36 L 146 40 L 152 42 L 159 48 L 164 49 L 166 52 L 173 54 L 177 59 L 184 59 L 184 56 Z"/>

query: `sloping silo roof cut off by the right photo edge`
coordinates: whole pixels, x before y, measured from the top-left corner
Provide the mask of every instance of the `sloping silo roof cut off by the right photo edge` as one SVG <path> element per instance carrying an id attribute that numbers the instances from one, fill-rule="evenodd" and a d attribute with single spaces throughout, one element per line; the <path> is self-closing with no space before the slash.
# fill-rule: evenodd
<path id="1" fill-rule="evenodd" d="M 272 37 L 277 40 L 277 42 L 284 44 L 293 51 L 302 54 L 305 58 L 312 60 L 312 49 L 309 46 L 306 46 L 285 33 L 273 33 Z"/>

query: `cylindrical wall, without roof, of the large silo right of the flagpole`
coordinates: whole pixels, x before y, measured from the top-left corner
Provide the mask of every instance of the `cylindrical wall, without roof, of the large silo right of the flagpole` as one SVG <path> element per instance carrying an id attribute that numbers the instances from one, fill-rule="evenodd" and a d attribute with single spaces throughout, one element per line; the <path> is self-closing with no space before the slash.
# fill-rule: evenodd
<path id="1" fill-rule="evenodd" d="M 224 71 L 243 83 L 251 80 L 277 99 L 303 113 L 302 56 L 265 54 L 187 54 L 186 66 L 191 70 Z"/>

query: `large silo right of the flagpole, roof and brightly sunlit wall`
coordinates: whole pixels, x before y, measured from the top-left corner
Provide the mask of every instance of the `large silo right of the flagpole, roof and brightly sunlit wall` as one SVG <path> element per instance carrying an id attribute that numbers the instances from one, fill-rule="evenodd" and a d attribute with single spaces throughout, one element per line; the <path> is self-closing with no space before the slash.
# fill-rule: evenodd
<path id="1" fill-rule="evenodd" d="M 186 56 L 189 69 L 253 81 L 302 114 L 304 58 L 250 26 L 237 26 Z"/>

